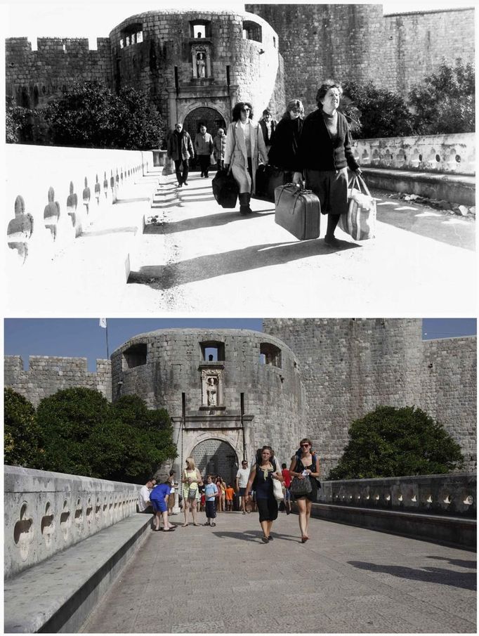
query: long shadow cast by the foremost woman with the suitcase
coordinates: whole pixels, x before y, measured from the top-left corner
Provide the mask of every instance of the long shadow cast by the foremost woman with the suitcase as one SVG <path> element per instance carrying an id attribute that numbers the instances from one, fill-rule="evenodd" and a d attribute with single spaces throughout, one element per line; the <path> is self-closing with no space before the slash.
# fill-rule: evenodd
<path id="1" fill-rule="evenodd" d="M 324 240 L 294 241 L 291 243 L 265 243 L 223 254 L 206 254 L 188 261 L 167 265 L 148 265 L 130 273 L 128 283 L 150 285 L 153 289 L 168 290 L 178 285 L 209 280 L 225 274 L 251 271 L 261 267 L 283 265 L 298 259 L 332 254 L 361 247 L 357 243 L 339 241 L 342 249 L 325 245 Z"/>

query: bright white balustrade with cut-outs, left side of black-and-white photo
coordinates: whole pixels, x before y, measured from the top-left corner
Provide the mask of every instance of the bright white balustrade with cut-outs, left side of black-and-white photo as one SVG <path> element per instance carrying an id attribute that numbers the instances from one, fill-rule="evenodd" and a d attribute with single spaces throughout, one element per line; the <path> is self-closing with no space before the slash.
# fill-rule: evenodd
<path id="1" fill-rule="evenodd" d="M 10 267 L 68 251 L 153 166 L 152 151 L 6 145 Z"/>

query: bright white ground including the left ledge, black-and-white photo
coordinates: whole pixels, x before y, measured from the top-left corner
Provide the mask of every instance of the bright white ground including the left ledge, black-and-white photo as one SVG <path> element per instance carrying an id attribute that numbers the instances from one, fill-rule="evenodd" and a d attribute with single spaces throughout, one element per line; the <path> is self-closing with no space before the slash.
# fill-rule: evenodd
<path id="1" fill-rule="evenodd" d="M 270 202 L 252 200 L 251 216 L 221 208 L 211 176 L 192 173 L 181 189 L 174 181 L 140 177 L 70 249 L 9 273 L 7 313 L 304 318 L 449 316 L 454 307 L 475 315 L 472 219 L 380 193 L 377 237 L 355 242 L 338 230 L 338 250 L 322 238 L 296 240 L 276 225 Z M 143 216 L 155 219 L 145 233 Z"/>

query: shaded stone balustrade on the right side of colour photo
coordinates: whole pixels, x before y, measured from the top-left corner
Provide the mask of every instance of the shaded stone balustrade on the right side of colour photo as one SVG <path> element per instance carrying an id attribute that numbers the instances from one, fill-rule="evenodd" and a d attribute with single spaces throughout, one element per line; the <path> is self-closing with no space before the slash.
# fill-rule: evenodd
<path id="1" fill-rule="evenodd" d="M 471 473 L 323 481 L 318 502 L 475 517 L 476 489 Z"/>

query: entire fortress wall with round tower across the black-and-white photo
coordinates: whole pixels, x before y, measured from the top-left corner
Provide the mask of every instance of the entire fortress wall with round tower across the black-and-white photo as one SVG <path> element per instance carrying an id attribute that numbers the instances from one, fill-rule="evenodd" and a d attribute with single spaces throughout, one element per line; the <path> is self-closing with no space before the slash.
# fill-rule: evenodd
<path id="1" fill-rule="evenodd" d="M 216 108 L 228 123 L 237 100 L 251 100 L 258 117 L 266 105 L 281 115 L 293 96 L 306 112 L 315 110 L 326 77 L 371 80 L 406 96 L 443 59 L 474 60 L 472 8 L 386 16 L 380 4 L 245 8 L 133 15 L 98 39 L 98 51 L 88 50 L 87 39 L 41 38 L 32 51 L 27 38 L 8 38 L 6 93 L 17 105 L 37 107 L 74 80 L 97 79 L 115 89 L 149 90 L 170 125 L 202 106 Z M 199 39 L 198 24 L 205 30 Z M 203 79 L 195 77 L 193 48 L 209 56 Z"/>

